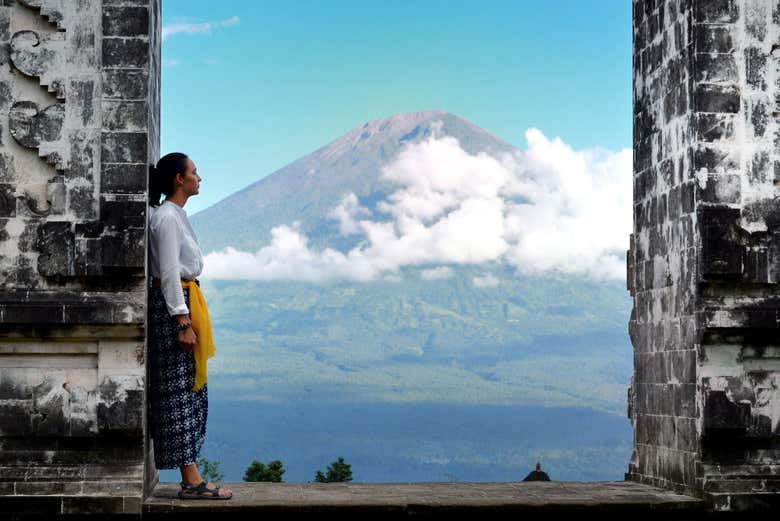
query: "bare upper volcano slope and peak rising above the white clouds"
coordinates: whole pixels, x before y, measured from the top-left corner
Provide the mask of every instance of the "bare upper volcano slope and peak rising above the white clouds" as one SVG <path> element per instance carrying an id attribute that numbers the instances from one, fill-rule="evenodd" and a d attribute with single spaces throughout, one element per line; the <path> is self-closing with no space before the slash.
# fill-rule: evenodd
<path id="1" fill-rule="evenodd" d="M 393 186 L 379 178 L 404 143 L 439 134 L 458 139 L 470 154 L 516 150 L 482 128 L 443 110 L 372 119 L 311 154 L 252 183 L 190 217 L 203 253 L 225 246 L 256 251 L 271 240 L 271 229 L 301 220 L 310 246 L 349 249 L 359 238 L 338 237 L 338 223 L 326 216 L 341 197 L 354 192 L 373 208 Z M 381 216 L 375 216 L 381 220 Z"/>

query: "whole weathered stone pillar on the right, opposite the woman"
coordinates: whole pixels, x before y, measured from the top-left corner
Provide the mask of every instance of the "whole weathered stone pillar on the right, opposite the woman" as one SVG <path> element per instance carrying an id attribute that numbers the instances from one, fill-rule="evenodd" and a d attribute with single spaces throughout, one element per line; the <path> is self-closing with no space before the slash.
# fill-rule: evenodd
<path id="1" fill-rule="evenodd" d="M 634 0 L 626 479 L 780 494 L 780 3 Z"/>

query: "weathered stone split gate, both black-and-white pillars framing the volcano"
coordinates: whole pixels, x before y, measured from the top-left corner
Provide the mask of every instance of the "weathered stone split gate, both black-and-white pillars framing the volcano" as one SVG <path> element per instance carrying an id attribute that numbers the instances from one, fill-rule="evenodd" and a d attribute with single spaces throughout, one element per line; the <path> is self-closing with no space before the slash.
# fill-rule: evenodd
<path id="1" fill-rule="evenodd" d="M 0 0 L 0 511 L 141 513 L 158 485 L 160 34 L 160 0 Z M 625 484 L 776 502 L 780 2 L 633 0 L 633 35 Z"/>

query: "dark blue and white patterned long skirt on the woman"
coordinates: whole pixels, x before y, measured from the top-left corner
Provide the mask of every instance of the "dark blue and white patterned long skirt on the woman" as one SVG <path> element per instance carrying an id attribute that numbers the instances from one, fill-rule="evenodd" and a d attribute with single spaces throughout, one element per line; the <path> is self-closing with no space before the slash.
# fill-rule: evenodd
<path id="1" fill-rule="evenodd" d="M 189 307 L 189 289 L 182 290 Z M 148 309 L 149 432 L 155 466 L 172 469 L 195 463 L 200 454 L 206 437 L 208 385 L 192 390 L 195 356 L 179 346 L 178 321 L 168 313 L 162 288 L 149 284 Z"/>

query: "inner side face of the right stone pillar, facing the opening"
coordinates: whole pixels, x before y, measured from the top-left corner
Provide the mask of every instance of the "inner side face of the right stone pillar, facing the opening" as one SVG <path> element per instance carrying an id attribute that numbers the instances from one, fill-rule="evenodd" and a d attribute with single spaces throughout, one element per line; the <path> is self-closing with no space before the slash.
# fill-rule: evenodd
<path id="1" fill-rule="evenodd" d="M 690 2 L 634 2 L 634 375 L 628 479 L 693 494 L 696 327 Z"/>

